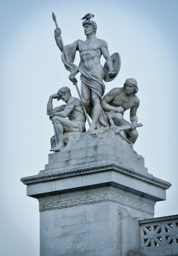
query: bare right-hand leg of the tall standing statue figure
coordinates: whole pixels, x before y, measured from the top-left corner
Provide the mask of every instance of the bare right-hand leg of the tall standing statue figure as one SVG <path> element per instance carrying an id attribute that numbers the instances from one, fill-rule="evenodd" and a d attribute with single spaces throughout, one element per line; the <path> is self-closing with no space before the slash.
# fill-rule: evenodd
<path id="1" fill-rule="evenodd" d="M 96 124 L 101 113 L 100 97 L 96 92 L 92 91 L 91 98 L 93 101 L 93 118 L 92 118 L 91 127 L 89 127 L 89 131 L 93 131 L 94 129 L 96 129 Z"/>

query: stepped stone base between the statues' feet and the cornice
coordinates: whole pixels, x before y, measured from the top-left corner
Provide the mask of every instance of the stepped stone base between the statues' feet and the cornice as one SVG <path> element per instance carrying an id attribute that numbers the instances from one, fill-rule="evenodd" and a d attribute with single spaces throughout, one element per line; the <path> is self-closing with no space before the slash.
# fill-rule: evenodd
<path id="1" fill-rule="evenodd" d="M 48 164 L 40 173 L 55 172 L 57 168 L 62 171 L 71 166 L 72 168 L 92 167 L 92 164 L 107 164 L 111 161 L 147 173 L 144 158 L 138 155 L 119 134 L 108 128 L 101 137 L 94 138 L 94 134 L 90 132 L 64 133 L 64 141 L 68 144 L 63 151 L 49 154 Z"/>

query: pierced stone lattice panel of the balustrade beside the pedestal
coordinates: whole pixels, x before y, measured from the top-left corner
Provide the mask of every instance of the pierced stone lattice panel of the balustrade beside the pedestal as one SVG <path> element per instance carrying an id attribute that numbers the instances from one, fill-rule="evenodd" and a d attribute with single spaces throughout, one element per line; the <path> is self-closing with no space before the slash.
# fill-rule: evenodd
<path id="1" fill-rule="evenodd" d="M 142 223 L 142 248 L 178 246 L 178 216 L 175 220 Z"/>

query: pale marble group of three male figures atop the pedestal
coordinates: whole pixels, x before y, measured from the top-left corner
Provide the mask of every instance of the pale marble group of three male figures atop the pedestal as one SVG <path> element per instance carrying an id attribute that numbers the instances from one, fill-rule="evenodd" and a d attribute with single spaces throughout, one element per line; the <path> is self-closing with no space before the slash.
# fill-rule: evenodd
<path id="1" fill-rule="evenodd" d="M 100 131 L 107 131 L 109 127 L 115 129 L 122 126 L 122 138 L 131 145 L 135 143 L 138 137 L 137 126 L 137 109 L 139 99 L 136 96 L 138 86 L 136 79 L 126 79 L 122 88 L 113 88 L 105 94 L 106 82 L 112 81 L 118 74 L 120 68 L 119 54 L 115 53 L 116 58 L 112 58 L 108 51 L 108 45 L 105 40 L 96 37 L 96 22 L 91 20 L 93 14 L 88 13 L 82 18 L 84 21 L 84 33 L 86 40 L 76 40 L 73 44 L 65 45 L 61 38 L 61 29 L 58 27 L 56 17 L 53 13 L 53 19 L 56 23 L 54 37 L 56 44 L 62 52 L 62 61 L 64 67 L 70 71 L 69 79 L 77 86 L 76 74 L 80 72 L 81 95 L 77 92 L 80 100 L 72 97 L 70 88 L 64 86 L 50 96 L 47 104 L 47 115 L 49 115 L 54 125 L 54 134 L 56 145 L 51 151 L 59 152 L 64 148 L 64 132 L 85 132 L 85 121 L 89 122 L 87 134 L 97 134 Z M 80 63 L 75 65 L 76 52 L 80 54 Z M 101 55 L 104 56 L 106 63 L 103 66 L 100 63 Z M 114 54 L 113 54 L 114 55 Z M 66 104 L 53 108 L 53 100 L 61 99 Z M 124 120 L 124 111 L 130 109 L 130 122 Z M 90 116 L 92 122 L 90 124 Z M 119 129 L 120 131 L 120 129 Z M 121 132 L 119 132 L 121 134 Z"/>

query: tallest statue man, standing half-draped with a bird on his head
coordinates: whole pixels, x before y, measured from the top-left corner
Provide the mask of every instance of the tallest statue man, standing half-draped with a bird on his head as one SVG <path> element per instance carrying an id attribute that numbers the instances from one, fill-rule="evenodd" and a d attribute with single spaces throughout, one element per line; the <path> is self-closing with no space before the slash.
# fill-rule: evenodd
<path id="1" fill-rule="evenodd" d="M 85 20 L 82 25 L 84 26 L 84 33 L 87 36 L 86 40 L 77 40 L 73 44 L 66 45 L 65 47 L 68 52 L 68 57 L 70 57 L 70 54 L 74 54 L 75 58 L 75 52 L 79 51 L 80 53 L 78 71 L 81 73 L 81 92 L 85 109 L 92 118 L 89 131 L 93 131 L 98 127 L 107 125 L 105 122 L 105 114 L 101 108 L 101 98 L 105 92 L 105 84 L 103 83 L 104 72 L 100 63 L 101 54 L 103 54 L 107 62 L 109 76 L 115 76 L 115 71 L 108 52 L 107 42 L 97 38 L 95 35 L 97 29 L 96 22 L 93 20 Z M 56 44 L 59 49 L 63 51 L 59 40 L 60 34 L 61 29 L 55 29 L 54 36 Z M 75 79 L 73 83 L 75 83 Z"/>

